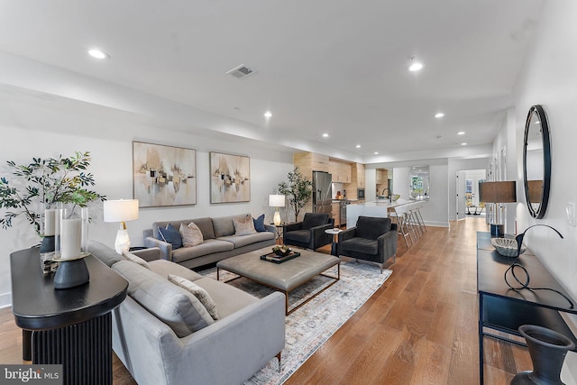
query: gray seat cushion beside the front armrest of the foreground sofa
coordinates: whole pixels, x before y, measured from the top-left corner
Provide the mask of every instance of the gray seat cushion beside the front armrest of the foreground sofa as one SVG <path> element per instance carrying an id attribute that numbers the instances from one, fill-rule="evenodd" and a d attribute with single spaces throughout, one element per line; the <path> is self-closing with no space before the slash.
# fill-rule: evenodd
<path id="1" fill-rule="evenodd" d="M 218 309 L 218 316 L 221 319 L 259 300 L 241 289 L 234 288 L 231 285 L 224 285 L 223 282 L 211 278 L 204 277 L 200 280 L 195 280 L 195 283 L 205 289 L 210 297 L 213 298 Z"/>

